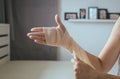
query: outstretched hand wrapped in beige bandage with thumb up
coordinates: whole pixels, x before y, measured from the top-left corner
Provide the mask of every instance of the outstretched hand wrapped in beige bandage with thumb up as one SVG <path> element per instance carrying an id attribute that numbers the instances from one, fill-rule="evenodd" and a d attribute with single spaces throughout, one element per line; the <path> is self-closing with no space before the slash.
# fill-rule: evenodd
<path id="1" fill-rule="evenodd" d="M 38 44 L 62 46 L 69 49 L 71 37 L 58 15 L 55 16 L 57 27 L 35 27 L 27 36 Z"/>

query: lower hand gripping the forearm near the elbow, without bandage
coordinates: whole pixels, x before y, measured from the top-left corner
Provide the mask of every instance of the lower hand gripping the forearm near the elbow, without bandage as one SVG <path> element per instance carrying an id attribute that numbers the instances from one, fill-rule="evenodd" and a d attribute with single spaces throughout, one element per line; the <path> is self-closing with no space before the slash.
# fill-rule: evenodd
<path id="1" fill-rule="evenodd" d="M 75 79 L 97 79 L 100 73 L 83 61 L 74 59 L 74 74 Z"/>

